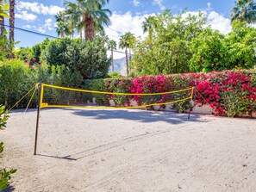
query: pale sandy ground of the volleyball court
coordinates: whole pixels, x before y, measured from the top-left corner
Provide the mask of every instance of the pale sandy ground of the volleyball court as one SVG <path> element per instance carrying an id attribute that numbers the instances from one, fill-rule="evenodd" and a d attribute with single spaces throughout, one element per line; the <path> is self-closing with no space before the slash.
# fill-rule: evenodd
<path id="1" fill-rule="evenodd" d="M 256 120 L 140 110 L 12 113 L 9 191 L 256 191 Z"/>

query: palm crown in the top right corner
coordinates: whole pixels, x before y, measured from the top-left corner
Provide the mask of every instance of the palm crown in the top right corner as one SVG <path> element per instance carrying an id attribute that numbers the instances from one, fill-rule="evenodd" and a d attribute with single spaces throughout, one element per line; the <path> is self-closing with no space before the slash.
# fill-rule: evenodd
<path id="1" fill-rule="evenodd" d="M 231 22 L 240 21 L 256 22 L 256 3 L 253 0 L 239 0 L 235 2 L 235 7 L 231 10 Z"/>

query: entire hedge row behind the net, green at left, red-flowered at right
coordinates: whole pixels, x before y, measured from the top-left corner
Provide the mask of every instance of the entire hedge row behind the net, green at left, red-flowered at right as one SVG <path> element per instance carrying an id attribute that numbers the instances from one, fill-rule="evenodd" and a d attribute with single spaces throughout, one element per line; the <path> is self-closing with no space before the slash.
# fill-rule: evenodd
<path id="1" fill-rule="evenodd" d="M 49 68 L 47 65 L 31 68 L 22 61 L 11 60 L 0 63 L 0 103 L 11 107 L 28 90 L 38 82 L 59 86 L 83 88 L 120 93 L 159 93 L 172 90 L 182 90 L 197 84 L 198 104 L 209 104 L 215 115 L 230 117 L 252 115 L 256 113 L 256 71 L 212 71 L 204 73 L 186 73 L 167 76 L 147 76 L 134 78 L 106 78 L 82 80 L 82 77 L 65 66 Z M 184 92 L 174 96 L 178 99 L 189 93 Z M 31 96 L 31 95 L 30 95 Z M 58 95 L 56 95 L 58 96 Z M 165 96 L 110 96 L 86 94 L 83 100 L 95 97 L 99 105 L 109 105 L 109 100 L 118 106 L 129 106 L 134 100 L 139 105 L 153 102 L 168 102 Z M 29 96 L 18 108 L 25 108 Z M 59 100 L 58 98 L 53 98 Z M 35 107 L 36 97 L 31 107 Z M 164 105 L 161 106 L 165 108 Z M 189 108 L 189 102 L 178 102 L 173 108 L 184 111 Z"/>

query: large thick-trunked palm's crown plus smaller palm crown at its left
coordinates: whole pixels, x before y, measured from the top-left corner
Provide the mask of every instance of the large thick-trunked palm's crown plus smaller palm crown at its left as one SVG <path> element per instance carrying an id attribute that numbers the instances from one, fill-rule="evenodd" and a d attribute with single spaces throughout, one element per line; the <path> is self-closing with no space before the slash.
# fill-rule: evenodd
<path id="1" fill-rule="evenodd" d="M 64 37 L 65 31 L 70 31 L 77 28 L 82 39 L 81 31 L 84 29 L 84 39 L 93 40 L 95 34 L 104 33 L 103 26 L 108 26 L 110 23 L 109 9 L 103 9 L 103 6 L 109 3 L 109 0 L 77 0 L 75 3 L 66 2 L 66 10 L 62 12 L 64 18 L 57 22 L 57 32 L 62 31 Z M 57 17 L 56 17 L 57 19 Z M 61 33 L 59 33 L 61 34 Z"/>

